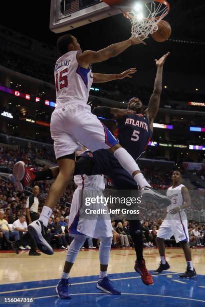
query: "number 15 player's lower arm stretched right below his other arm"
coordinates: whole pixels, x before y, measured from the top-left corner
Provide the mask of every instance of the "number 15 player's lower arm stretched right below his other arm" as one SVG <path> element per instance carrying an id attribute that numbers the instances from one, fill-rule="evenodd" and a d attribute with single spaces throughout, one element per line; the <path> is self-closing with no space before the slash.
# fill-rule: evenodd
<path id="1" fill-rule="evenodd" d="M 113 80 L 122 80 L 124 78 L 132 78 L 131 75 L 136 73 L 136 68 L 130 68 L 120 74 L 98 74 L 93 73 L 93 83 L 105 83 Z"/>

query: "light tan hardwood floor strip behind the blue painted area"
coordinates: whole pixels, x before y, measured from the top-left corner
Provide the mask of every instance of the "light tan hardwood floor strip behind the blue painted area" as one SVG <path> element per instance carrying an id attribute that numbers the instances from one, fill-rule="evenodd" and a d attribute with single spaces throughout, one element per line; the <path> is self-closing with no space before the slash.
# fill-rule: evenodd
<path id="1" fill-rule="evenodd" d="M 1 252 L 0 284 L 60 278 L 66 253 L 66 251 L 56 251 L 52 256 L 43 253 L 41 256 L 29 256 L 28 251 L 21 251 L 19 255 L 13 252 Z M 144 249 L 144 258 L 149 270 L 158 267 L 160 259 L 157 248 Z M 170 264 L 169 271 L 185 271 L 186 262 L 180 248 L 167 248 L 166 260 Z M 196 273 L 205 275 L 205 248 L 192 249 L 192 260 Z M 109 274 L 133 272 L 134 261 L 134 249 L 112 249 L 108 272 Z M 98 273 L 98 250 L 81 250 L 71 271 L 71 276 L 91 276 L 98 275 Z M 136 273 L 136 275 L 138 274 Z"/>

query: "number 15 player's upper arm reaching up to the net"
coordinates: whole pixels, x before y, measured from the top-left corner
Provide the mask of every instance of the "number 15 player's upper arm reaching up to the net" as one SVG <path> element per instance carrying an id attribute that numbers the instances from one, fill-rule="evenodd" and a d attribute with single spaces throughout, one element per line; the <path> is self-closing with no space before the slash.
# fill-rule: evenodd
<path id="1" fill-rule="evenodd" d="M 87 68 L 89 65 L 93 63 L 100 63 L 110 58 L 114 58 L 120 53 L 122 53 L 124 50 L 129 48 L 131 45 L 138 45 L 138 44 L 146 45 L 146 43 L 143 41 L 143 37 L 130 38 L 126 41 L 112 44 L 99 51 L 92 51 L 92 50 L 84 51 L 82 54 L 77 55 L 77 61 L 82 67 Z"/>

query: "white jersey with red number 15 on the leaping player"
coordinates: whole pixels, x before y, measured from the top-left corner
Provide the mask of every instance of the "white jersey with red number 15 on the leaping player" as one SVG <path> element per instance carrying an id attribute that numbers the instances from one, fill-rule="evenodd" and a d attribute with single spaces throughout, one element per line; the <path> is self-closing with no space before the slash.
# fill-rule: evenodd
<path id="1" fill-rule="evenodd" d="M 60 57 L 55 65 L 54 75 L 56 82 L 57 106 L 69 102 L 88 101 L 90 87 L 93 83 L 91 66 L 81 67 L 76 59 L 79 51 L 69 51 Z"/>

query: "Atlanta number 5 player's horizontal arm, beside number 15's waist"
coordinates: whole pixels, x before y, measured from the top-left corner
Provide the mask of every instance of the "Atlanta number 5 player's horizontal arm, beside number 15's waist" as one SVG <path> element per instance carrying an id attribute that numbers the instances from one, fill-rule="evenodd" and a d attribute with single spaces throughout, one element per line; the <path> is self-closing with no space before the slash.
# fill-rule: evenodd
<path id="1" fill-rule="evenodd" d="M 125 110 L 125 109 L 115 109 L 109 107 L 95 107 L 92 110 L 92 113 L 96 116 L 104 117 L 106 119 L 121 119 L 123 116 L 128 114 L 135 113 L 132 110 Z"/>

